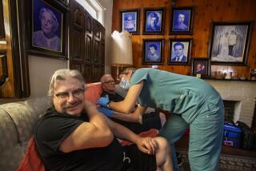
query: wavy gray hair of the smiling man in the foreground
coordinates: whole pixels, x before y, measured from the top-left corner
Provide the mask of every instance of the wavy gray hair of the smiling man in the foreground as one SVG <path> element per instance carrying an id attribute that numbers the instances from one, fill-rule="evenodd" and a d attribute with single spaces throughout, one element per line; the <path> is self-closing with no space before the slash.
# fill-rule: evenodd
<path id="1" fill-rule="evenodd" d="M 83 88 L 86 89 L 85 80 L 82 77 L 82 74 L 78 70 L 61 69 L 61 70 L 56 70 L 53 76 L 50 78 L 48 95 L 53 96 L 54 84 L 56 81 L 66 80 L 67 78 L 77 78 L 82 83 Z"/>

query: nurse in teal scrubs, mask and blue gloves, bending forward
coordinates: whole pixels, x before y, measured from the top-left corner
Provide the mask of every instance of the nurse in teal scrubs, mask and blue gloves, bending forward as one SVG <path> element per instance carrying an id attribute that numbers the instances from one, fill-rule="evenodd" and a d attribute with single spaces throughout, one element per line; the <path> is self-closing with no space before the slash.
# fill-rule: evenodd
<path id="1" fill-rule="evenodd" d="M 174 168 L 178 169 L 174 142 L 186 128 L 190 128 L 190 168 L 218 170 L 222 149 L 224 106 L 219 93 L 200 78 L 173 74 L 162 70 L 126 69 L 120 85 L 129 89 L 119 102 L 101 97 L 99 105 L 122 113 L 130 113 L 138 101 L 140 105 L 172 113 L 160 130 L 172 146 Z M 176 166 L 176 167 L 175 167 Z"/>

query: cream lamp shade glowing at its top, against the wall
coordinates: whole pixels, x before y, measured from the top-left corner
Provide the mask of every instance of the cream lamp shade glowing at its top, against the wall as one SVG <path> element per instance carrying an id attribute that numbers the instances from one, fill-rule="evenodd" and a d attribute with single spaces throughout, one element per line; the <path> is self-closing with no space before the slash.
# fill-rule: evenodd
<path id="1" fill-rule="evenodd" d="M 112 65 L 131 66 L 133 65 L 133 50 L 131 35 L 123 30 L 121 33 L 114 31 L 112 37 Z"/>

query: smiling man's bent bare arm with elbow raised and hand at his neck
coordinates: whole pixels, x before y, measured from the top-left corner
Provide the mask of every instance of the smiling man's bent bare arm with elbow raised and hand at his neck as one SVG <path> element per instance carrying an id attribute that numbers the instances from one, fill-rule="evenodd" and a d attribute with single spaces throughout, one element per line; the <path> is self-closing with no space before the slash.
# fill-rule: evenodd
<path id="1" fill-rule="evenodd" d="M 106 122 L 106 117 L 102 113 L 98 113 L 96 105 L 86 101 L 85 109 L 90 122 L 83 122 L 62 141 L 59 147 L 62 152 L 105 147 L 113 141 L 114 135 Z"/>

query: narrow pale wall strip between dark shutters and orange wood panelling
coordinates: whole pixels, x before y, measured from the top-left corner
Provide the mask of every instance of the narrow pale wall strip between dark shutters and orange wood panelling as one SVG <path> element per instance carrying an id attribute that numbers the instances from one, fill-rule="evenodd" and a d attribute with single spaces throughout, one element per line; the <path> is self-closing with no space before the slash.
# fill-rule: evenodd
<path id="1" fill-rule="evenodd" d="M 112 34 L 112 9 L 113 0 L 98 0 L 98 2 L 105 8 L 103 24 L 106 29 L 106 41 L 105 41 L 105 74 L 111 73 L 111 34 Z"/>

